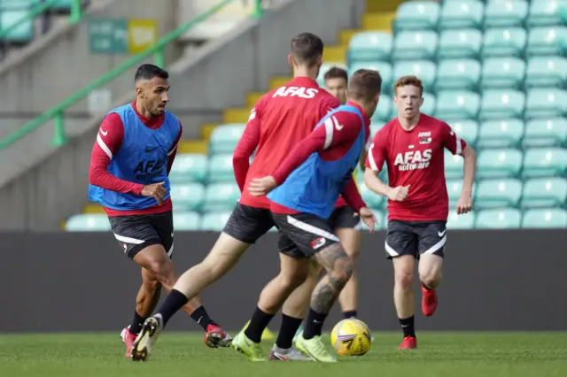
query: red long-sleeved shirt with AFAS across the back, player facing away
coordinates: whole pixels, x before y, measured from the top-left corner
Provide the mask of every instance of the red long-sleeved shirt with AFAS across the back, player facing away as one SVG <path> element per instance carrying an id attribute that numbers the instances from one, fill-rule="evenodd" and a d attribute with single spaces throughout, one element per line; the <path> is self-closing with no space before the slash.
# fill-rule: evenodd
<path id="1" fill-rule="evenodd" d="M 290 150 L 313 131 L 327 112 L 339 105 L 337 98 L 308 77 L 296 77 L 262 96 L 250 112 L 232 157 L 242 192 L 240 204 L 269 209 L 266 196 L 250 195 L 246 188 L 250 181 L 274 173 Z M 254 150 L 256 155 L 250 165 Z"/>

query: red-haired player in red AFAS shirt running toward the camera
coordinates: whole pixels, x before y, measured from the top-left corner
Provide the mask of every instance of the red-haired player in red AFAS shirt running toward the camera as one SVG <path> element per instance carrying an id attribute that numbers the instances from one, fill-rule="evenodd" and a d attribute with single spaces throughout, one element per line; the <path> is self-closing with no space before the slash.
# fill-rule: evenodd
<path id="1" fill-rule="evenodd" d="M 470 212 L 472 207 L 477 158 L 446 122 L 420 113 L 422 81 L 405 76 L 395 83 L 394 90 L 398 117 L 374 136 L 364 182 L 372 191 L 388 197 L 385 250 L 387 258 L 392 259 L 394 304 L 404 334 L 399 349 L 408 350 L 417 347 L 411 289 L 416 259 L 423 315 L 433 315 L 438 303 L 436 289 L 441 281 L 449 211 L 444 150 L 464 158 L 462 193 L 456 207 L 459 214 Z M 389 185 L 377 176 L 384 162 Z"/>

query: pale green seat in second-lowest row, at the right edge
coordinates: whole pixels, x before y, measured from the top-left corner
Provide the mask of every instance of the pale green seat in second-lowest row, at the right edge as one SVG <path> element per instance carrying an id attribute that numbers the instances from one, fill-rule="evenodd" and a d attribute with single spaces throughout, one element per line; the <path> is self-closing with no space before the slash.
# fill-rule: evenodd
<path id="1" fill-rule="evenodd" d="M 533 178 L 524 182 L 522 208 L 563 207 L 567 203 L 567 181 L 559 177 Z"/>

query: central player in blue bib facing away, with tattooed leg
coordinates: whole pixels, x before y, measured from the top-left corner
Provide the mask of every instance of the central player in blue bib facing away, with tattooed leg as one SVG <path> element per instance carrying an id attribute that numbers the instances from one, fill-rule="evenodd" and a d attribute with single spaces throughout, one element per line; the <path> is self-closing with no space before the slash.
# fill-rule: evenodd
<path id="1" fill-rule="evenodd" d="M 353 261 L 333 235 L 329 222 L 338 196 L 342 194 L 370 231 L 376 222 L 362 201 L 352 173 L 368 138 L 366 125 L 376 111 L 381 87 L 382 78 L 377 71 L 361 69 L 353 73 L 348 84 L 350 101 L 325 116 L 275 173 L 250 183 L 249 190 L 255 196 L 266 195 L 274 189 L 268 198 L 282 235 L 279 248 L 285 263 L 281 264 L 280 276 L 290 281 L 305 280 L 310 258 L 326 272 L 311 296 L 305 331 L 295 342 L 301 352 L 321 362 L 336 361 L 322 343 L 322 326 L 353 274 Z M 262 290 L 250 325 L 233 341 L 233 347 L 252 361 L 263 359 L 260 335 L 291 294 L 291 289 L 276 289 L 274 285 L 275 281 L 270 281 Z M 271 359 L 289 359 L 283 356 L 286 346 L 291 347 L 300 320 L 295 324 L 292 321 L 286 324 L 286 320 L 283 316 Z M 283 341 L 287 344 L 283 345 Z M 273 357 L 274 353 L 279 355 Z"/>

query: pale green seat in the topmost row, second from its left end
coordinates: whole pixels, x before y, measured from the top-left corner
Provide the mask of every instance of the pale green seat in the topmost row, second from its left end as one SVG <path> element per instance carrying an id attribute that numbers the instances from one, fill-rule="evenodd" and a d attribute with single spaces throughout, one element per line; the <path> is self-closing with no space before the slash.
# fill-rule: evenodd
<path id="1" fill-rule="evenodd" d="M 451 1 L 441 6 L 439 29 L 480 28 L 485 5 L 476 0 Z"/>

